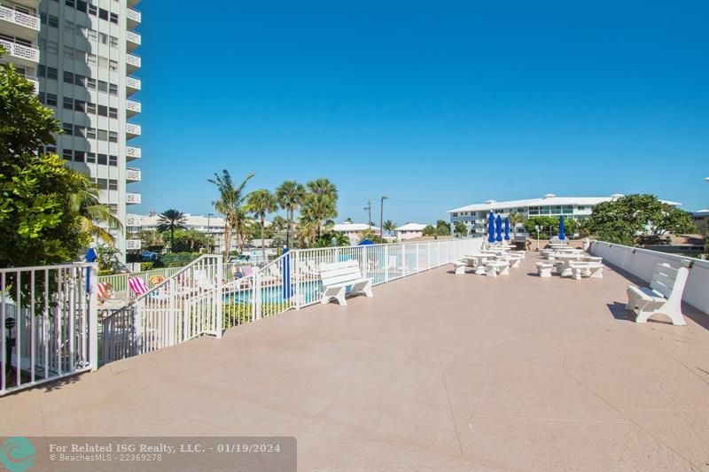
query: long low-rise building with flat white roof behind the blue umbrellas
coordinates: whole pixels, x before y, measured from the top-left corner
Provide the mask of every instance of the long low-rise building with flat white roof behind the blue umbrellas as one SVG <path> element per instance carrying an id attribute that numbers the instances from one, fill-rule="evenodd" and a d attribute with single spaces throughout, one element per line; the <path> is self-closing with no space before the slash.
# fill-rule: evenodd
<path id="1" fill-rule="evenodd" d="M 490 212 L 500 214 L 503 218 L 510 213 L 520 213 L 525 219 L 534 216 L 565 216 L 574 220 L 588 218 L 596 205 L 609 202 L 614 198 L 624 197 L 614 194 L 610 197 L 557 197 L 548 193 L 541 198 L 527 198 L 523 200 L 508 200 L 498 202 L 487 200 L 485 203 L 462 206 L 448 210 L 450 214 L 451 231 L 456 221 L 462 221 L 468 228 L 471 236 L 487 234 L 487 217 Z M 679 206 L 678 202 L 663 200 L 666 204 Z"/>

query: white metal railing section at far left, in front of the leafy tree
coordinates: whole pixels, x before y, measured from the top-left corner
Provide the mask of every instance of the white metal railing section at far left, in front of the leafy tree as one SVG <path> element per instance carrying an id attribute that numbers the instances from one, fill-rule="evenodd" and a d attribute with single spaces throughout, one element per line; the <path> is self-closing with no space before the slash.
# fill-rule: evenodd
<path id="1" fill-rule="evenodd" d="M 0 395 L 97 368 L 96 264 L 0 269 Z"/>

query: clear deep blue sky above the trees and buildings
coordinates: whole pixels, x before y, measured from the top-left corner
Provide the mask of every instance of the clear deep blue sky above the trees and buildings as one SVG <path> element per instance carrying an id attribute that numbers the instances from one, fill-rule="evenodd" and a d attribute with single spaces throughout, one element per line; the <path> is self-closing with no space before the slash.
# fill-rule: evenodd
<path id="1" fill-rule="evenodd" d="M 709 206 L 709 3 L 146 1 L 136 213 L 328 177 L 339 218 L 652 192 Z"/>

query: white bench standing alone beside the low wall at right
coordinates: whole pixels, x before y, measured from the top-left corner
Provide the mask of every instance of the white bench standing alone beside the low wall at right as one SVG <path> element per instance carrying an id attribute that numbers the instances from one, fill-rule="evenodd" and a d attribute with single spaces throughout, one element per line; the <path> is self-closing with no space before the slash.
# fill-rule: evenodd
<path id="1" fill-rule="evenodd" d="M 669 264 L 658 264 L 652 274 L 650 287 L 627 286 L 626 310 L 637 314 L 635 322 L 645 323 L 655 314 L 666 315 L 674 325 L 684 326 L 682 292 L 690 270 L 675 269 Z"/>

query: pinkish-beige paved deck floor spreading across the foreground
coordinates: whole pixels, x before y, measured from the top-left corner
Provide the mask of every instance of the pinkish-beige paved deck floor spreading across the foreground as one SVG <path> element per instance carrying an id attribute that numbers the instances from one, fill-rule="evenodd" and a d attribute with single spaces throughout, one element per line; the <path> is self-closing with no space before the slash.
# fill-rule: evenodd
<path id="1" fill-rule="evenodd" d="M 294 436 L 299 470 L 709 470 L 709 323 L 452 267 L 0 398 L 2 436 Z M 634 281 L 637 282 L 637 281 Z"/>

